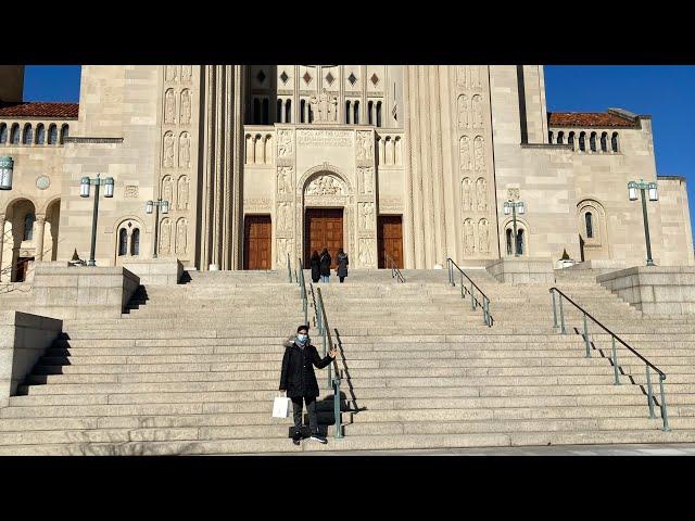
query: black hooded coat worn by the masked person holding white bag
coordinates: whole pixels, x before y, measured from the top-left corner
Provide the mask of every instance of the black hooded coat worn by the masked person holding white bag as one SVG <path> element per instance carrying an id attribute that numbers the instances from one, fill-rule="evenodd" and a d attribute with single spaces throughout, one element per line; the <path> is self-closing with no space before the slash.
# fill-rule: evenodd
<path id="1" fill-rule="evenodd" d="M 287 390 L 289 398 L 300 396 L 318 396 L 318 383 L 314 374 L 314 366 L 318 369 L 327 367 L 333 359 L 326 355 L 321 360 L 316 347 L 307 345 L 303 350 L 292 343 L 285 348 L 282 357 L 282 372 L 280 374 L 280 391 Z"/>

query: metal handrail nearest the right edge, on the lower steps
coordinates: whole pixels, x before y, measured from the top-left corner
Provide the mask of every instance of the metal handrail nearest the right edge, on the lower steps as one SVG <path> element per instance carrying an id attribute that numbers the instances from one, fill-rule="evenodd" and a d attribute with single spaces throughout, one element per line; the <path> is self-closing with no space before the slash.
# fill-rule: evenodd
<path id="1" fill-rule="evenodd" d="M 553 295 L 553 327 L 555 329 L 558 328 L 557 307 L 556 307 L 556 304 L 555 304 L 555 293 L 557 293 L 559 295 L 559 312 L 560 312 L 559 313 L 559 315 L 560 315 L 559 332 L 560 332 L 560 334 L 567 334 L 567 330 L 565 329 L 565 313 L 563 310 L 563 298 L 565 298 L 567 302 L 569 302 L 572 306 L 574 306 L 577 309 L 579 309 L 583 314 L 583 322 L 584 322 L 583 323 L 583 326 L 584 326 L 584 328 L 583 328 L 584 329 L 583 336 L 584 336 L 584 344 L 586 345 L 586 356 L 585 356 L 586 358 L 591 358 L 591 341 L 589 340 L 589 326 L 586 323 L 586 317 L 591 318 L 594 321 L 594 323 L 596 323 L 596 326 L 598 326 L 601 329 L 603 329 L 606 333 L 610 334 L 610 341 L 611 341 L 611 344 L 612 344 L 611 345 L 612 358 L 610 359 L 610 363 L 612 364 L 612 370 L 614 370 L 614 376 L 615 376 L 614 385 L 620 385 L 618 354 L 616 352 L 616 341 L 620 342 L 630 353 L 635 355 L 637 358 L 640 358 L 645 364 L 646 377 L 647 377 L 647 405 L 649 406 L 649 418 L 656 418 L 656 416 L 654 415 L 654 406 L 655 405 L 659 406 L 659 408 L 661 409 L 661 420 L 662 420 L 662 423 L 664 423 L 662 430 L 664 431 L 670 431 L 671 429 L 669 428 L 669 417 L 668 417 L 668 411 L 667 411 L 667 408 L 666 408 L 666 395 L 664 393 L 664 381 L 666 380 L 666 374 L 664 373 L 664 371 L 661 371 L 661 369 L 656 367 L 654 364 L 652 364 L 649 360 L 647 360 L 644 356 L 642 356 L 640 353 L 637 353 L 635 350 L 633 350 L 620 336 L 618 336 L 616 333 L 610 331 L 603 323 L 601 323 L 598 320 L 596 320 L 594 317 L 592 317 L 591 314 L 589 312 L 586 312 L 586 309 L 584 309 L 582 306 L 577 304 L 574 301 L 572 301 L 569 296 L 567 296 L 560 290 L 558 290 L 557 288 L 551 288 L 549 291 L 551 291 L 551 295 Z M 660 391 L 660 395 L 661 395 L 661 403 L 660 404 L 656 403 L 656 398 L 654 396 L 654 393 L 652 392 L 652 374 L 649 372 L 649 369 L 654 369 L 659 374 L 659 391 Z"/>

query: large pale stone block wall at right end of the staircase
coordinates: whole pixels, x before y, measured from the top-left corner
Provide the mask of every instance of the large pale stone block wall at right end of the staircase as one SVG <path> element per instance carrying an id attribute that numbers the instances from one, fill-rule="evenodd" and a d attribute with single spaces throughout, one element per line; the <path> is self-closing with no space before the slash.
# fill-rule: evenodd
<path id="1" fill-rule="evenodd" d="M 645 315 L 695 313 L 693 266 L 635 266 L 599 275 L 596 281 Z"/>

